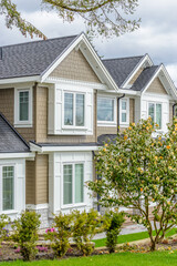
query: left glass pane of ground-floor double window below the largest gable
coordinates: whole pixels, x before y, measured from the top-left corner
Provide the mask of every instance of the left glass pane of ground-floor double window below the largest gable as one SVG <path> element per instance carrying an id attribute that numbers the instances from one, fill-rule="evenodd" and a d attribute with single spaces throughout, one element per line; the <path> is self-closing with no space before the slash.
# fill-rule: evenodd
<path id="1" fill-rule="evenodd" d="M 72 197 L 73 197 L 73 193 L 72 193 L 72 165 L 64 165 L 63 167 L 63 203 L 64 204 L 71 204 L 72 203 Z"/>

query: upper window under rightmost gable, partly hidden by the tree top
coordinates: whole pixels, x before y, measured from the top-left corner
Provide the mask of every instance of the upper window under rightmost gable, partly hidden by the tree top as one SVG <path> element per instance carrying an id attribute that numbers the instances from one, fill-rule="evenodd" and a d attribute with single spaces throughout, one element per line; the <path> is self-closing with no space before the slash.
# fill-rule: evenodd
<path id="1" fill-rule="evenodd" d="M 158 124 L 162 129 L 162 104 L 160 103 L 148 103 L 148 116 L 152 117 L 153 122 Z"/>

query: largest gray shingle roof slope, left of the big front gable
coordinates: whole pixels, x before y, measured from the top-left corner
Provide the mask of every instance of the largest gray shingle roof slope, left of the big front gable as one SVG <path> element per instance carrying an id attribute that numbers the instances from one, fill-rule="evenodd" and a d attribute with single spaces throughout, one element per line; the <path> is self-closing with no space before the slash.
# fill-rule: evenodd
<path id="1" fill-rule="evenodd" d="M 76 35 L 0 48 L 0 79 L 42 74 L 76 39 Z"/>

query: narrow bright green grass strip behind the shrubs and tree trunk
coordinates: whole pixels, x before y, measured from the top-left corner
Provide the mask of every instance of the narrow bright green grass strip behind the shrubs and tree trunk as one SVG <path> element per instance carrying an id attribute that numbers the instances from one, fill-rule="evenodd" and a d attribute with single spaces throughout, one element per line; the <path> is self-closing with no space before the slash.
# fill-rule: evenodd
<path id="1" fill-rule="evenodd" d="M 173 228 L 171 231 L 167 232 L 166 236 L 175 235 L 176 232 L 177 232 L 177 229 Z M 154 235 L 155 235 L 155 232 L 154 232 Z M 128 235 L 119 235 L 117 243 L 122 244 L 122 243 L 128 243 L 128 242 L 134 242 L 134 241 L 140 241 L 140 239 L 145 239 L 145 238 L 148 238 L 147 232 L 133 233 L 133 234 L 128 234 Z M 103 247 L 106 245 L 106 238 L 96 239 L 93 242 L 95 243 L 95 247 Z"/>

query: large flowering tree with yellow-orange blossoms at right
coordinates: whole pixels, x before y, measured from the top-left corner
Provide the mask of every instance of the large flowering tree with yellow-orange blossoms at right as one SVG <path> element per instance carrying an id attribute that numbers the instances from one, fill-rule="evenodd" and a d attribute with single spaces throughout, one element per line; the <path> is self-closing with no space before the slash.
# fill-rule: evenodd
<path id="1" fill-rule="evenodd" d="M 147 228 L 152 250 L 177 224 L 177 120 L 164 137 L 153 137 L 157 129 L 149 117 L 118 133 L 116 143 L 106 143 L 96 156 L 103 177 L 88 184 L 100 204 L 132 209 L 127 215 Z"/>

